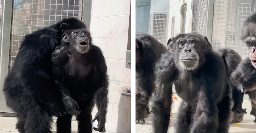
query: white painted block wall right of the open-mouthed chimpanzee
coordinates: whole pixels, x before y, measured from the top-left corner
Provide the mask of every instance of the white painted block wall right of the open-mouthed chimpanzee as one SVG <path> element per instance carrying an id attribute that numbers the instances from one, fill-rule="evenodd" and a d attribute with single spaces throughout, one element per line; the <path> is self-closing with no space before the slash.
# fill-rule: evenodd
<path id="1" fill-rule="evenodd" d="M 130 0 L 92 1 L 90 32 L 103 51 L 110 79 L 106 128 L 118 133 L 131 131 L 131 101 L 121 95 L 131 89 L 131 71 L 125 67 L 129 21 Z M 94 109 L 93 117 L 96 113 Z"/>

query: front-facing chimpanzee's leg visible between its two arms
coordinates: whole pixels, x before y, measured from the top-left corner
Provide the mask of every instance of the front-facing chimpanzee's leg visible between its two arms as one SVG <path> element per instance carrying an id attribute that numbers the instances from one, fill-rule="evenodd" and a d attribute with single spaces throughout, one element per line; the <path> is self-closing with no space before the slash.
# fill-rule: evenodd
<path id="1" fill-rule="evenodd" d="M 189 133 L 191 124 L 191 106 L 187 102 L 181 101 L 178 118 L 175 126 L 175 133 Z"/>

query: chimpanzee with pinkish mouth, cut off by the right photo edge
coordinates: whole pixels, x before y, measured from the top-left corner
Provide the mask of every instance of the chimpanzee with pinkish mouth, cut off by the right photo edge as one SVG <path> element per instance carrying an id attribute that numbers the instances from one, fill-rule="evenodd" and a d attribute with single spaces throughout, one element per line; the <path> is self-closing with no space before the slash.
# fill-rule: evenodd
<path id="1" fill-rule="evenodd" d="M 242 109 L 243 95 L 248 94 L 251 99 L 251 115 L 256 117 L 256 13 L 248 17 L 243 26 L 240 39 L 250 48 L 249 57 L 238 65 L 231 74 L 230 84 L 234 86 L 233 99 L 235 104 L 232 111 L 237 114 L 246 114 Z M 238 92 L 238 93 L 236 93 Z M 253 121 L 256 123 L 256 118 Z"/>

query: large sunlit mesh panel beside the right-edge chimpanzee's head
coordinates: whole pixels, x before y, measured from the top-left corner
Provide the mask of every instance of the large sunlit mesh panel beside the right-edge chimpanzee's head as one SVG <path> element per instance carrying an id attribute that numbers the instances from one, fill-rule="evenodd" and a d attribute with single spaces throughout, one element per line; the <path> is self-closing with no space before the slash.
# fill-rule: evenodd
<path id="1" fill-rule="evenodd" d="M 248 48 L 239 38 L 244 20 L 256 11 L 255 7 L 255 0 L 215 0 L 213 48 L 231 48 L 242 57 L 248 57 Z"/>

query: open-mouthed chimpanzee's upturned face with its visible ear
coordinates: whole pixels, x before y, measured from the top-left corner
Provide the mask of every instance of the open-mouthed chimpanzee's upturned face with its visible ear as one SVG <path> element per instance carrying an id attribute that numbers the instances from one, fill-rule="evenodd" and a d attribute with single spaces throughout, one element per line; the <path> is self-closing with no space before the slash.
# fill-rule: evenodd
<path id="1" fill-rule="evenodd" d="M 84 54 L 90 48 L 90 33 L 85 29 L 75 29 L 62 35 L 62 40 L 68 42 L 77 52 Z"/>

